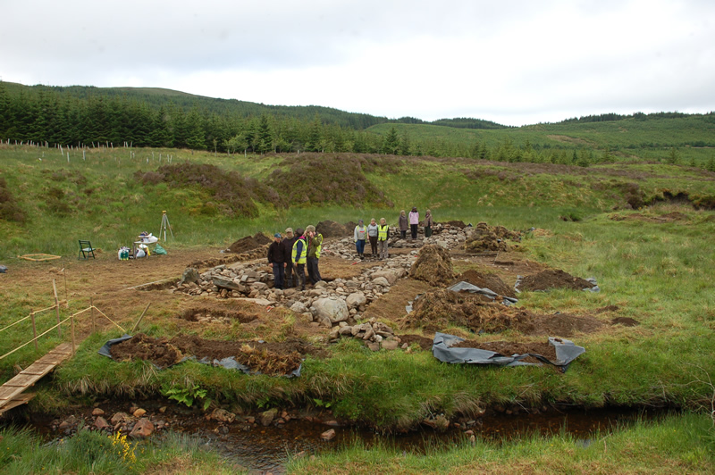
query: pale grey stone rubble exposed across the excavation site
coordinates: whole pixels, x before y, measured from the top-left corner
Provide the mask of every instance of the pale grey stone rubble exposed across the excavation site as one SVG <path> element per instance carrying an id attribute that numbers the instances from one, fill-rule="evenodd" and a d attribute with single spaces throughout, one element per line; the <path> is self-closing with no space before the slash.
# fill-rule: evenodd
<path id="1" fill-rule="evenodd" d="M 319 227 L 330 229 L 331 233 L 337 233 L 341 229 L 340 224 L 332 221 L 321 222 Z M 348 228 L 349 226 L 342 227 Z M 308 286 L 304 292 L 296 288 L 274 288 L 273 271 L 263 255 L 248 261 L 222 263 L 202 273 L 189 268 L 184 271 L 172 291 L 190 296 L 242 299 L 265 306 L 281 305 L 306 316 L 315 326 L 331 329 L 330 336 L 333 341 L 339 337 L 356 337 L 364 340 L 366 345 L 374 350 L 381 347 L 397 348 L 400 338 L 395 337 L 394 332 L 383 323 L 360 322 L 362 313 L 374 300 L 388 293 L 398 279 L 404 279 L 410 271 L 414 271 L 414 264 L 423 248 L 428 249 L 427 254 L 441 256 L 441 268 L 444 267 L 445 270 L 435 275 L 438 279 L 435 283 L 450 283 L 452 271 L 448 251 L 463 246 L 473 232 L 471 226 L 464 226 L 461 221 L 455 224 L 437 224 L 433 228 L 432 237 L 424 237 L 420 233 L 416 239 L 400 239 L 400 232 L 391 229 L 388 246 L 391 250 L 400 249 L 400 254 L 393 253 L 386 260 L 368 261 L 374 265 L 366 266 L 357 277 L 323 280 L 315 286 Z M 345 233 L 347 230 L 343 236 Z M 252 237 L 250 240 L 256 239 Z M 406 253 L 405 249 L 412 250 Z M 261 248 L 259 251 L 265 254 L 265 249 Z M 326 239 L 323 254 L 345 260 L 357 259 L 352 237 Z M 429 274 L 428 269 L 421 273 L 425 276 Z"/>

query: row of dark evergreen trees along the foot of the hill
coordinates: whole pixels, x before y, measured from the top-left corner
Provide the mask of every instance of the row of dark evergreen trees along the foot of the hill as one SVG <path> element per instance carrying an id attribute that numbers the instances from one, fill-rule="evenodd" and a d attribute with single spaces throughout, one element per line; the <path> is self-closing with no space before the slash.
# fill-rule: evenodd
<path id="1" fill-rule="evenodd" d="M 59 88 L 61 89 L 61 88 Z M 588 166 L 615 159 L 610 151 L 590 149 L 499 146 L 484 142 L 466 145 L 446 139 L 413 140 L 392 127 L 384 136 L 326 122 L 318 112 L 312 118 L 281 113 L 245 115 L 238 110 L 206 108 L 203 104 L 156 105 L 114 94 L 65 94 L 57 88 L 20 87 L 10 94 L 0 82 L 0 138 L 55 145 L 189 148 L 215 153 L 348 152 L 365 154 L 469 157 L 499 162 L 551 162 Z M 105 89 L 102 89 L 105 91 Z M 183 97 L 186 95 L 174 96 Z M 174 97 L 172 96 L 172 97 Z M 249 104 L 249 103 L 248 103 Z M 347 113 L 347 112 L 343 112 Z M 370 116 L 372 117 L 372 116 Z M 403 118 L 410 121 L 410 118 Z M 411 121 L 418 121 L 411 119 Z M 470 119 L 455 119 L 470 127 Z M 444 124 L 450 121 L 444 122 Z M 483 121 L 484 128 L 501 128 Z"/>

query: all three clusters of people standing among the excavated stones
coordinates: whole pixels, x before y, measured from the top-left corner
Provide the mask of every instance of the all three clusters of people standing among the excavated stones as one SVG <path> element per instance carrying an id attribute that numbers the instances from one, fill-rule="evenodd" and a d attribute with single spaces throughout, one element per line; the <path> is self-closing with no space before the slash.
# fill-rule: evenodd
<path id="1" fill-rule="evenodd" d="M 425 237 L 432 236 L 432 212 L 425 212 Z M 400 237 L 407 238 L 408 229 L 413 239 L 417 237 L 417 227 L 419 226 L 419 212 L 416 206 L 408 215 L 405 210 L 400 211 L 398 227 Z M 365 221 L 360 220 L 353 232 L 355 248 L 360 259 L 365 259 L 366 243 L 370 242 L 370 251 L 373 258 L 380 260 L 388 258 L 387 242 L 390 237 L 390 227 L 384 218 L 380 218 L 380 224 L 375 219 L 370 220 L 370 224 L 365 225 Z M 273 268 L 273 282 L 275 288 L 300 287 L 306 289 L 306 268 L 307 279 L 315 285 L 323 280 L 320 277 L 319 261 L 320 252 L 323 248 L 323 235 L 315 231 L 315 226 L 306 226 L 306 229 L 298 228 L 293 233 L 292 228 L 285 230 L 285 236 L 280 232 L 273 235 L 273 243 L 268 247 L 268 263 Z"/>

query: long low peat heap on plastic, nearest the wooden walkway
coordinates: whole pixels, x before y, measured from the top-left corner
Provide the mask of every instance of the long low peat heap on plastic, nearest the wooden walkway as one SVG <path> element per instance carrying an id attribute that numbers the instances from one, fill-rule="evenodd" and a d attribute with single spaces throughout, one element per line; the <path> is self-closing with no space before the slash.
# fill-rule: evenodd
<path id="1" fill-rule="evenodd" d="M 296 371 L 306 354 L 323 355 L 323 351 L 298 338 L 281 343 L 257 341 L 206 340 L 195 335 L 180 335 L 167 339 L 139 333 L 113 345 L 112 357 L 117 361 L 142 359 L 160 368 L 180 362 L 186 356 L 223 360 L 233 357 L 252 372 L 268 375 L 290 374 Z"/>

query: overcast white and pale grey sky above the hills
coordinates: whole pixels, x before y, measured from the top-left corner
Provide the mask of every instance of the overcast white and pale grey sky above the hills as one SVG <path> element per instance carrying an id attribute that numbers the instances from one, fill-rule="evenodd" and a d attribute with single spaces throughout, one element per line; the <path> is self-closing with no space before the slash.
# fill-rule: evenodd
<path id="1" fill-rule="evenodd" d="M 0 79 L 507 125 L 715 111 L 715 1 L 0 0 Z"/>

